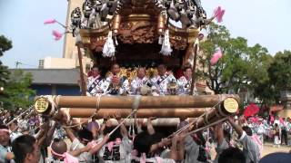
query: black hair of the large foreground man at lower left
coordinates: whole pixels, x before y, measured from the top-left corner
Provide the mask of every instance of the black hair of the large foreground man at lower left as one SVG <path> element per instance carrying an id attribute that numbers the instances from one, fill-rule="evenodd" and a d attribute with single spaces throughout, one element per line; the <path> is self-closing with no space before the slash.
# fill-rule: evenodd
<path id="1" fill-rule="evenodd" d="M 30 135 L 22 135 L 12 142 L 12 151 L 15 155 L 15 163 L 23 163 L 28 153 L 34 151 L 36 139 Z"/>

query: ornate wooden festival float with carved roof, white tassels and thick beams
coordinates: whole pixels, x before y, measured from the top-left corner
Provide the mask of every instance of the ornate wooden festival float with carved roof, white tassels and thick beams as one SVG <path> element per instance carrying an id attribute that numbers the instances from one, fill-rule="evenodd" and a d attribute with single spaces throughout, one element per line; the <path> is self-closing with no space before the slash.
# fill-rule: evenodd
<path id="1" fill-rule="evenodd" d="M 98 66 L 117 62 L 124 67 L 121 73 L 129 82 L 138 66 L 146 67 L 148 75 L 152 75 L 158 62 L 165 62 L 171 68 L 189 64 L 193 71 L 193 80 L 187 86 L 189 94 L 44 96 L 35 99 L 35 110 L 53 115 L 64 109 L 73 118 L 95 116 L 96 119 L 119 112 L 126 123 L 134 118 L 156 117 L 154 125 L 158 126 L 174 126 L 178 118 L 189 118 L 193 129 L 226 120 L 238 110 L 239 97 L 200 95 L 205 86 L 194 80 L 199 41 L 203 36 L 200 30 L 222 14 L 219 8 L 207 19 L 200 0 L 85 0 L 82 8 L 77 7 L 71 13 L 71 30 L 79 58 L 80 49 L 84 48 Z M 80 70 L 85 94 L 83 69 Z"/>

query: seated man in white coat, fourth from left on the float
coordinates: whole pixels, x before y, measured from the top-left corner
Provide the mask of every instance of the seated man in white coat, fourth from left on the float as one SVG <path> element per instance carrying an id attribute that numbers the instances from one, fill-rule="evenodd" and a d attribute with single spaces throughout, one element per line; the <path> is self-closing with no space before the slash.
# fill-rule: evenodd
<path id="1" fill-rule="evenodd" d="M 168 85 L 171 82 L 176 82 L 176 78 L 173 74 L 166 72 L 166 65 L 159 64 L 157 66 L 157 73 L 158 75 L 151 79 L 152 83 L 156 87 L 156 91 L 158 95 L 168 95 L 170 92 L 168 91 Z"/>

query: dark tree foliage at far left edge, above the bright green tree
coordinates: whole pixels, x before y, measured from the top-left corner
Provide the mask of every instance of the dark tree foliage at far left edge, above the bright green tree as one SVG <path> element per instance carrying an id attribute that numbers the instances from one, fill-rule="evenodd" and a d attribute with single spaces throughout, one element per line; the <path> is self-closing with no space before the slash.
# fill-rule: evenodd
<path id="1" fill-rule="evenodd" d="M 12 48 L 12 42 L 5 38 L 4 35 L 0 35 L 0 57 L 3 56 L 3 54 Z M 7 67 L 3 65 L 3 63 L 0 60 L 0 87 L 4 86 L 4 83 L 8 80 L 9 72 L 7 70 Z"/>

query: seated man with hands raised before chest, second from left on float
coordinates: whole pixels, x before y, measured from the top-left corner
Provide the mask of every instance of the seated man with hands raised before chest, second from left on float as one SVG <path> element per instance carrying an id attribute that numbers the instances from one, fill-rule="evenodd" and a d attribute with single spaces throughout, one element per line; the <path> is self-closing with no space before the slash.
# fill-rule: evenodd
<path id="1" fill-rule="evenodd" d="M 120 73 L 119 64 L 115 63 L 111 66 L 111 72 L 106 79 L 109 82 L 107 94 L 126 95 L 129 92 L 129 82 L 126 76 Z"/>

